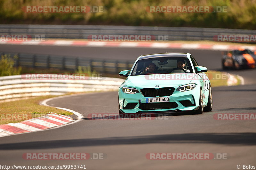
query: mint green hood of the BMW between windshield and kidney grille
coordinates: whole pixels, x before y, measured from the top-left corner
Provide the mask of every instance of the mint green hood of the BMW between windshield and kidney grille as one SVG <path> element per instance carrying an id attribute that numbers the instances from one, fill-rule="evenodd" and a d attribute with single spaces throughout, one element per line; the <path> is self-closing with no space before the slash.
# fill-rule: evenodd
<path id="1" fill-rule="evenodd" d="M 175 74 L 152 74 L 152 75 L 139 75 L 129 76 L 125 80 L 127 87 L 167 87 L 186 85 L 191 82 L 196 73 L 175 73 Z"/>

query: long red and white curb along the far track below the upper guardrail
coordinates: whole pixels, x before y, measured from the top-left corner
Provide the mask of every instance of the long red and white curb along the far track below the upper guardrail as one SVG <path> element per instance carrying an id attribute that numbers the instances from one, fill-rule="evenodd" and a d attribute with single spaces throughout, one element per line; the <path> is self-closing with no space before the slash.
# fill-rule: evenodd
<path id="1" fill-rule="evenodd" d="M 172 43 L 172 42 L 113 42 L 113 41 L 84 41 L 84 40 L 47 40 L 47 41 L 0 41 L 0 44 L 15 45 L 51 45 L 77 47 L 114 47 L 114 48 L 179 48 L 201 50 L 233 50 L 238 48 L 256 51 L 256 46 L 218 45 L 200 43 Z"/>

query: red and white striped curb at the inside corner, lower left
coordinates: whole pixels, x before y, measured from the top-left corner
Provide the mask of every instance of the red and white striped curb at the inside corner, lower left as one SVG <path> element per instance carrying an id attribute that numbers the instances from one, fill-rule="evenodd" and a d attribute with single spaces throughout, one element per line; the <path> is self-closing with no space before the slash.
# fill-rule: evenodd
<path id="1" fill-rule="evenodd" d="M 67 124 L 72 121 L 73 119 L 69 116 L 50 113 L 39 118 L 33 118 L 18 123 L 8 123 L 0 125 L 0 137 L 9 136 L 17 133 L 49 129 Z"/>

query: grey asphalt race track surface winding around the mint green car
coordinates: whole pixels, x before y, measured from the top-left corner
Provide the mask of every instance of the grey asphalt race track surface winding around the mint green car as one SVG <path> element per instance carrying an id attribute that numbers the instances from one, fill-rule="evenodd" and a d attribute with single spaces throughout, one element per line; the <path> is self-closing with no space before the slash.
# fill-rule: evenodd
<path id="1" fill-rule="evenodd" d="M 0 51 L 135 59 L 141 54 L 189 52 L 198 63 L 221 70 L 220 51 L 1 45 Z M 58 129 L 0 138 L 1 165 L 74 165 L 86 169 L 237 169 L 254 165 L 256 125 L 252 120 L 215 120 L 215 113 L 256 113 L 255 70 L 228 72 L 244 86 L 212 88 L 213 110 L 203 115 L 169 115 L 166 120 L 88 120 L 92 113 L 117 113 L 117 92 L 87 93 L 51 100 L 84 115 Z M 102 160 L 25 160 L 23 153 L 105 153 Z M 148 160 L 147 153 L 228 153 L 222 160 Z M 241 167 L 242 169 L 242 167 Z"/>

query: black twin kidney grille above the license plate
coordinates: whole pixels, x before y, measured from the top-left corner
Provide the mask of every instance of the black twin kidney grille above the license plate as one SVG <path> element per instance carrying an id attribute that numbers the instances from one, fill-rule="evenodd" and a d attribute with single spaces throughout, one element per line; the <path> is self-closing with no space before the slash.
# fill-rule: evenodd
<path id="1" fill-rule="evenodd" d="M 156 96 L 164 97 L 164 96 L 171 96 L 174 90 L 175 90 L 174 87 L 163 87 L 159 89 L 145 88 L 145 89 L 141 89 L 140 92 L 145 97 L 156 97 Z"/>

